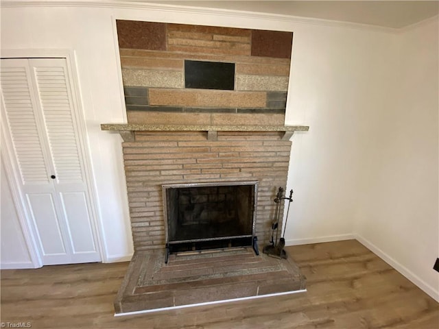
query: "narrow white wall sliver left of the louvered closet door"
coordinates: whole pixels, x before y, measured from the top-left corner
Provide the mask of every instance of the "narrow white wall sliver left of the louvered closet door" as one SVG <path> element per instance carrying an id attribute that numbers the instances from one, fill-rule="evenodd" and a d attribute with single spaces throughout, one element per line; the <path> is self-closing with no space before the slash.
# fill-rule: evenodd
<path id="1" fill-rule="evenodd" d="M 3 159 L 0 161 L 0 186 L 0 267 L 1 269 L 32 268 L 34 265 L 12 199 Z"/>

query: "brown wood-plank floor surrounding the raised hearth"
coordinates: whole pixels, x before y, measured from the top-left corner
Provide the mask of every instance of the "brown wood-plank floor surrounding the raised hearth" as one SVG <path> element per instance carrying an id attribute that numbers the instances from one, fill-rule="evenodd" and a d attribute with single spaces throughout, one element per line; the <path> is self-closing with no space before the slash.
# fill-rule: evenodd
<path id="1" fill-rule="evenodd" d="M 306 293 L 130 317 L 113 317 L 112 306 L 128 263 L 3 270 L 1 322 L 32 328 L 439 328 L 439 304 L 357 241 L 287 252 L 307 276 Z"/>

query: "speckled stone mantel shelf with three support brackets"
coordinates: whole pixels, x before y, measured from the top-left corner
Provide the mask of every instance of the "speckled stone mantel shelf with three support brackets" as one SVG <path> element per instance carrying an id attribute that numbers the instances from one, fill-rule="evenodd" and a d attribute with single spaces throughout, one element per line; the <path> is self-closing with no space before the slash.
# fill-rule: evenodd
<path id="1" fill-rule="evenodd" d="M 101 130 L 119 132 L 123 141 L 134 141 L 134 132 L 207 132 L 209 141 L 217 139 L 217 132 L 283 132 L 283 141 L 294 132 L 307 132 L 307 125 L 151 125 L 134 123 L 102 123 Z"/>

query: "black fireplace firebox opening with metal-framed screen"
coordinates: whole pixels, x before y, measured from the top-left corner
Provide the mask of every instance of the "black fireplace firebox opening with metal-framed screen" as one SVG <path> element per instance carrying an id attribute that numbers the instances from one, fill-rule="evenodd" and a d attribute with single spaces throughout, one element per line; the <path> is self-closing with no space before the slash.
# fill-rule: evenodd
<path id="1" fill-rule="evenodd" d="M 254 233 L 257 186 L 258 182 L 162 185 L 167 256 L 245 245 L 259 254 Z"/>

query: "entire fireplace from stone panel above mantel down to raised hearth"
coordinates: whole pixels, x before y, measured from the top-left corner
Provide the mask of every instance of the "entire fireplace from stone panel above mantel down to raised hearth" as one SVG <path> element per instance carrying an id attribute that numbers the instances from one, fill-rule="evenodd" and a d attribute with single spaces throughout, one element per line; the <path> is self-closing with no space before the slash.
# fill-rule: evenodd
<path id="1" fill-rule="evenodd" d="M 303 291 L 294 262 L 251 247 L 270 241 L 289 139 L 308 130 L 284 125 L 292 32 L 118 20 L 117 34 L 128 123 L 101 127 L 123 138 L 134 256 L 116 313 Z"/>

